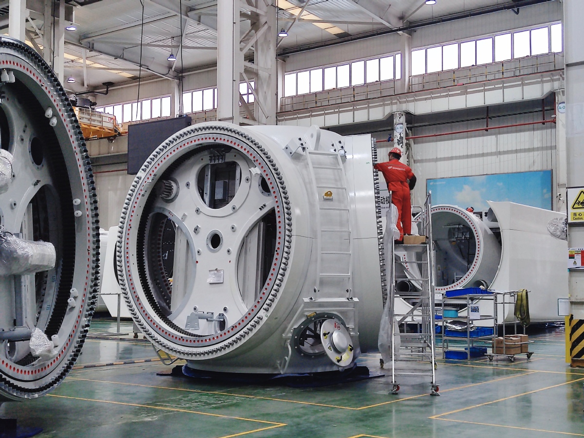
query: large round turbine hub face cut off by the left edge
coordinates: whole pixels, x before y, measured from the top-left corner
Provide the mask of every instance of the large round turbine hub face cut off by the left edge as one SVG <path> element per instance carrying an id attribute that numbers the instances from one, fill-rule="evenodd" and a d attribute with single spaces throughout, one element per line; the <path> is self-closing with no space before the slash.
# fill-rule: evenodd
<path id="1" fill-rule="evenodd" d="M 0 140 L 13 155 L 0 194 L 5 230 L 54 246 L 54 267 L 0 276 L 0 402 L 36 398 L 67 376 L 95 305 L 99 227 L 95 185 L 81 130 L 64 89 L 30 47 L 0 37 Z M 29 346 L 40 329 L 50 359 Z"/>

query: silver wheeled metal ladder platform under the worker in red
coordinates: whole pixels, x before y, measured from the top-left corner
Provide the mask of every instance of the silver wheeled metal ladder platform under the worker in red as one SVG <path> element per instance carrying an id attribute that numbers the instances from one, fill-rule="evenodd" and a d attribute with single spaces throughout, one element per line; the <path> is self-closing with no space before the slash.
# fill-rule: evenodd
<path id="1" fill-rule="evenodd" d="M 432 192 L 428 192 L 422 213 L 414 223 L 422 225 L 420 235 L 427 237 L 426 243 L 418 245 L 397 245 L 392 240 L 391 254 L 387 260 L 394 260 L 390 265 L 390 279 L 388 281 L 390 290 L 388 294 L 388 303 L 391 305 L 391 383 L 392 394 L 397 394 L 399 384 L 396 376 L 429 376 L 432 377 L 430 382 L 430 394 L 439 394 L 439 385 L 436 384 L 436 344 L 435 344 L 435 324 L 434 324 L 434 248 L 432 238 Z M 407 256 L 405 259 L 395 258 L 396 249 L 404 251 Z M 412 278 L 411 276 L 396 277 L 396 265 L 418 266 L 420 277 Z M 405 270 L 403 270 L 405 272 Z M 420 285 L 420 288 L 404 293 L 396 290 L 396 284 L 399 281 L 411 281 Z M 411 308 L 405 314 L 398 314 L 396 310 L 396 301 L 405 300 L 411 304 Z M 409 325 L 417 325 L 418 333 L 406 333 Z M 397 325 L 398 330 L 395 330 Z M 403 367 L 397 369 L 397 362 L 418 362 L 429 363 L 430 370 L 404 370 Z"/>

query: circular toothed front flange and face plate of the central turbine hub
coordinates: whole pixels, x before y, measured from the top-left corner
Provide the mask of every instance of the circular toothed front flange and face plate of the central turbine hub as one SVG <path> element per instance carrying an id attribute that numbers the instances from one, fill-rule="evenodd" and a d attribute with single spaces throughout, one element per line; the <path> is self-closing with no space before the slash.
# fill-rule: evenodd
<path id="1" fill-rule="evenodd" d="M 237 166 L 230 168 L 230 162 Z M 223 173 L 214 180 L 213 172 L 199 178 L 208 164 L 217 165 L 215 170 Z M 239 183 L 235 190 L 227 175 L 231 171 Z M 260 177 L 266 180 L 270 196 L 260 192 Z M 163 206 L 156 187 L 169 178 L 185 190 Z M 172 220 L 176 239 L 184 242 L 179 251 L 183 262 L 173 267 L 172 287 L 167 287 L 164 275 L 153 275 L 161 272 L 160 218 Z M 221 123 L 176 133 L 138 172 L 120 218 L 117 266 L 134 321 L 155 345 L 189 360 L 220 356 L 246 342 L 265 324 L 280 298 L 292 222 L 283 174 L 258 140 Z M 246 238 L 259 224 L 271 230 L 273 245 L 262 257 L 260 287 L 245 294 L 237 287 L 242 281 L 237 266 Z M 165 294 L 171 297 L 168 301 L 162 299 Z M 170 304 L 166 311 L 162 301 Z M 225 307 L 230 317 L 229 325 L 223 327 L 215 322 Z"/>

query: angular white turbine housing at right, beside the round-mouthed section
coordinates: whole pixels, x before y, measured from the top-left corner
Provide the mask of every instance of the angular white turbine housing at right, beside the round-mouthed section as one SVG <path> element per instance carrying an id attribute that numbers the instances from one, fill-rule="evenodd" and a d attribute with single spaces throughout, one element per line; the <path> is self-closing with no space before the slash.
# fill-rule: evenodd
<path id="1" fill-rule="evenodd" d="M 489 201 L 489 206 L 489 220 L 498 224 L 503 244 L 491 288 L 527 289 L 531 321 L 558 321 L 558 298 L 568 297 L 568 242 L 553 237 L 547 224 L 566 214 L 513 202 Z M 509 321 L 513 306 L 505 310 Z"/>

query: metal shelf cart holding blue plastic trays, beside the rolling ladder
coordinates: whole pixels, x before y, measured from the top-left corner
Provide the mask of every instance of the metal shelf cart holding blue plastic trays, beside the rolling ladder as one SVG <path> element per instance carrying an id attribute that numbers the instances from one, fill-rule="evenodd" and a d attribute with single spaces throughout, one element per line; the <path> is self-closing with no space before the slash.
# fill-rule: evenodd
<path id="1" fill-rule="evenodd" d="M 467 291 L 467 293 L 464 293 Z M 474 292 L 474 293 L 473 293 Z M 495 339 L 495 295 L 484 291 L 480 292 L 478 288 L 471 287 L 468 289 L 461 289 L 460 295 L 453 296 L 443 296 L 442 298 L 442 323 L 440 325 L 440 338 L 442 340 L 442 354 L 444 359 L 470 359 L 473 355 L 474 349 L 477 349 L 477 343 L 492 343 Z M 457 293 L 457 291 L 451 291 L 450 293 Z M 449 311 L 453 309 L 448 308 L 449 305 L 458 305 L 461 308 L 461 313 L 464 315 L 448 316 Z M 482 309 L 482 312 L 488 311 L 490 314 L 479 314 L 478 317 L 472 315 L 471 306 L 478 306 Z M 446 311 L 446 312 L 445 312 Z M 467 324 L 466 331 L 458 332 L 447 329 L 446 321 L 462 321 Z M 481 324 L 486 324 L 486 326 L 476 326 L 471 329 L 471 324 L 474 322 L 482 322 Z M 460 350 L 456 347 L 450 346 L 450 341 L 465 341 L 466 349 Z M 484 345 L 482 347 L 485 347 Z M 486 349 L 484 349 L 486 353 Z M 449 353 L 452 357 L 449 356 Z M 485 354 L 481 354 L 485 356 Z"/>

